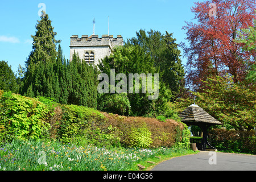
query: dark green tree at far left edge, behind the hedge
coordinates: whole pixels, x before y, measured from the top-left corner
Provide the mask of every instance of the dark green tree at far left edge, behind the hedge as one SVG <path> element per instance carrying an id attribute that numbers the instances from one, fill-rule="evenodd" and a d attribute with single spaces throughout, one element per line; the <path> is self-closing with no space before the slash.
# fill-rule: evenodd
<path id="1" fill-rule="evenodd" d="M 6 61 L 0 61 L 0 90 L 4 92 L 12 91 L 14 93 L 18 91 L 14 72 L 11 69 L 11 65 L 9 66 Z"/>

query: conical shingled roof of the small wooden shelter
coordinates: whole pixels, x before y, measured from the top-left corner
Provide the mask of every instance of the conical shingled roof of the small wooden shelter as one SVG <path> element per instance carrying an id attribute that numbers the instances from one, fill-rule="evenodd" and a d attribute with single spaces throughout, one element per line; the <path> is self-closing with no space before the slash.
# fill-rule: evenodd
<path id="1" fill-rule="evenodd" d="M 217 119 L 213 118 L 208 114 L 203 108 L 199 107 L 196 104 L 192 104 L 182 111 L 179 115 L 181 122 L 184 123 L 205 123 L 213 125 L 222 125 Z"/>

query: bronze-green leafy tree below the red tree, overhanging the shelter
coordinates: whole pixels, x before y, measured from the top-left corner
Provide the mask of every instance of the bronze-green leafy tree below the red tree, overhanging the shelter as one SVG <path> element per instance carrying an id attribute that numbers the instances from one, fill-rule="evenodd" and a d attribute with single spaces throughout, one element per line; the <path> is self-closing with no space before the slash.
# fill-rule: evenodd
<path id="1" fill-rule="evenodd" d="M 233 76 L 208 78 L 204 92 L 193 92 L 196 103 L 224 123 L 227 129 L 251 130 L 255 127 L 256 91 Z"/>

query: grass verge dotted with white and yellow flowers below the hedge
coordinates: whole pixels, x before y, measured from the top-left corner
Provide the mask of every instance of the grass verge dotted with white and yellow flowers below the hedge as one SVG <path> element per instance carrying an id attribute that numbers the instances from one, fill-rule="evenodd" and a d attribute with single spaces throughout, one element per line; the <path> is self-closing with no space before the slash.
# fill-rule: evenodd
<path id="1" fill-rule="evenodd" d="M 57 141 L 13 140 L 0 147 L 3 171 L 138 171 L 176 156 L 195 154 L 182 148 L 98 148 Z M 156 158 L 155 156 L 160 156 Z M 154 164 L 147 163 L 152 161 Z"/>

